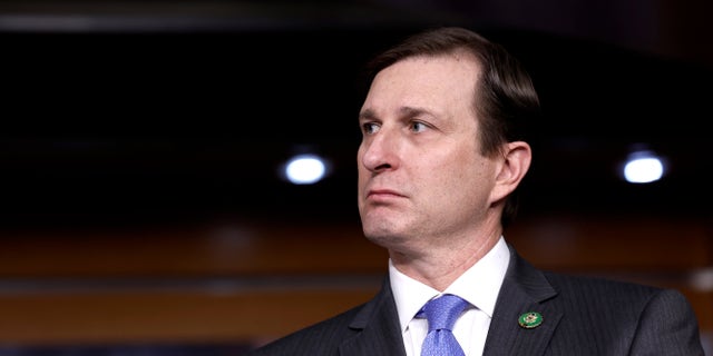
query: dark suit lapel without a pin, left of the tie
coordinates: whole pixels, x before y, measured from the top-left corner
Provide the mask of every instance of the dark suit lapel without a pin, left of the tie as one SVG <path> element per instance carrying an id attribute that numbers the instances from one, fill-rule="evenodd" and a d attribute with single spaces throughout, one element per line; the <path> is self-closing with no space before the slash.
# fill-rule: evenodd
<path id="1" fill-rule="evenodd" d="M 397 306 L 387 277 L 379 294 L 354 317 L 350 328 L 361 330 L 340 346 L 342 356 L 406 356 Z"/>

